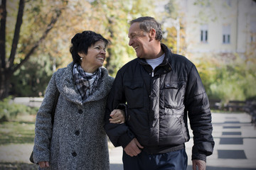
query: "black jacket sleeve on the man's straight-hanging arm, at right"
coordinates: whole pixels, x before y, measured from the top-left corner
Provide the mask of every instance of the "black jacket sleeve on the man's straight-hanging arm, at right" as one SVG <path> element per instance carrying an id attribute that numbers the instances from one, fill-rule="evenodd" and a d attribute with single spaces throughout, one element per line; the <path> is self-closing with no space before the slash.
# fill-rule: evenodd
<path id="1" fill-rule="evenodd" d="M 188 73 L 185 104 L 193 130 L 192 159 L 206 162 L 206 156 L 213 154 L 213 127 L 208 96 L 194 65 Z"/>

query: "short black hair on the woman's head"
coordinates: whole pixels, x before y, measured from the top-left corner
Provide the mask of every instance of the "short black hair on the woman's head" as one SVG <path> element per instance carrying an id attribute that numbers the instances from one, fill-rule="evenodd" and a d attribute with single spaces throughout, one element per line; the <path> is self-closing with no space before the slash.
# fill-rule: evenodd
<path id="1" fill-rule="evenodd" d="M 105 43 L 105 47 L 107 47 L 107 45 L 110 43 L 110 41 L 102 37 L 102 35 L 97 34 L 91 30 L 85 30 L 82 33 L 77 33 L 71 39 L 72 45 L 70 47 L 70 53 L 73 57 L 73 62 L 81 64 L 78 52 L 87 55 L 88 47 L 95 45 L 95 43 L 99 40 L 102 40 Z"/>

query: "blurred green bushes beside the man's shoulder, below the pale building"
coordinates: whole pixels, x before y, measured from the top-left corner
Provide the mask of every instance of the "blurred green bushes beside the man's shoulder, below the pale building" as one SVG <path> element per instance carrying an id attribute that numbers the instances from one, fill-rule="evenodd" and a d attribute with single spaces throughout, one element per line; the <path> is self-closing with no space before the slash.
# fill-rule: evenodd
<path id="1" fill-rule="evenodd" d="M 256 68 L 252 63 L 235 55 L 228 63 L 220 57 L 204 57 L 197 64 L 198 72 L 210 99 L 244 101 L 255 98 Z"/>

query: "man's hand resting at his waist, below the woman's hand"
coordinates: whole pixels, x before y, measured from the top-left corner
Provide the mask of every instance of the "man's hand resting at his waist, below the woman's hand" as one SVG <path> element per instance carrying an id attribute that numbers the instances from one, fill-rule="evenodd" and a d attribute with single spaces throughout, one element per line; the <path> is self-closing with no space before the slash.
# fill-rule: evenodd
<path id="1" fill-rule="evenodd" d="M 142 152 L 143 147 L 139 144 L 138 140 L 134 138 L 129 144 L 124 148 L 124 152 L 127 153 L 130 157 L 137 156 Z"/>

